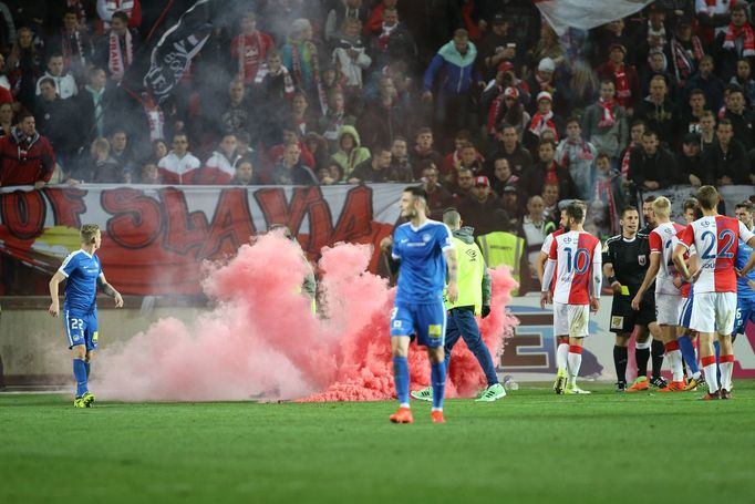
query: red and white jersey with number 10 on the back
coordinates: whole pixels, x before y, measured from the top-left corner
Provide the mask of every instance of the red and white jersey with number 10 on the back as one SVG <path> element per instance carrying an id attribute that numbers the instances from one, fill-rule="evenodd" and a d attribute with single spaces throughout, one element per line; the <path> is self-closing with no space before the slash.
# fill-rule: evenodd
<path id="1" fill-rule="evenodd" d="M 554 237 L 548 260 L 556 261 L 554 301 L 589 305 L 590 282 L 601 277 L 600 240 L 586 232 L 562 233 Z"/>

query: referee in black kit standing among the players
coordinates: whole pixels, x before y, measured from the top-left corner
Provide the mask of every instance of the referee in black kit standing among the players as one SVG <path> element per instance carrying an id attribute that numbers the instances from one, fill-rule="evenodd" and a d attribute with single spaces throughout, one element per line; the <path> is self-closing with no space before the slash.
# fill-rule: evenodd
<path id="1" fill-rule="evenodd" d="M 648 235 L 639 234 L 640 213 L 628 206 L 621 210 L 621 235 L 606 241 L 603 251 L 603 275 L 613 290 L 611 306 L 611 332 L 616 333 L 613 363 L 617 372 L 617 392 L 638 392 L 649 389 L 648 360 L 650 359 L 651 335 L 649 326 L 655 323 L 655 292 L 648 289 L 642 298 L 640 310 L 632 309 L 631 301 L 642 285 L 650 265 L 650 243 Z M 627 388 L 627 361 L 629 339 L 637 328 L 634 357 L 637 380 Z"/>

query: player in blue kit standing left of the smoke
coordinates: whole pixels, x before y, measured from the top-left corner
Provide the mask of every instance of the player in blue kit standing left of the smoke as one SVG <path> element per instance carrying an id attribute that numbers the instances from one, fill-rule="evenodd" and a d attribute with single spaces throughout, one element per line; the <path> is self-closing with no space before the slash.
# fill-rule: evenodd
<path id="1" fill-rule="evenodd" d="M 73 356 L 73 377 L 76 380 L 74 408 L 90 408 L 94 394 L 89 391 L 90 363 L 97 349 L 97 281 L 102 291 L 115 299 L 115 307 L 123 306 L 123 298 L 102 272 L 102 265 L 95 251 L 102 245 L 102 235 L 96 224 L 81 227 L 81 249 L 65 258 L 60 269 L 50 280 L 50 315 L 60 317 L 58 286 L 65 281 L 65 302 L 63 322 L 69 338 L 69 349 Z"/>

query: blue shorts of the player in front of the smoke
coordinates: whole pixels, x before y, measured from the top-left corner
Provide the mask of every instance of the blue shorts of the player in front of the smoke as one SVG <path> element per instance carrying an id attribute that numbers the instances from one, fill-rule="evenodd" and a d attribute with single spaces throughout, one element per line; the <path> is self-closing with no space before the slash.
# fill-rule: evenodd
<path id="1" fill-rule="evenodd" d="M 423 305 L 396 305 L 391 312 L 391 336 L 417 336 L 424 347 L 443 347 L 446 339 L 446 307 L 443 300 Z"/>

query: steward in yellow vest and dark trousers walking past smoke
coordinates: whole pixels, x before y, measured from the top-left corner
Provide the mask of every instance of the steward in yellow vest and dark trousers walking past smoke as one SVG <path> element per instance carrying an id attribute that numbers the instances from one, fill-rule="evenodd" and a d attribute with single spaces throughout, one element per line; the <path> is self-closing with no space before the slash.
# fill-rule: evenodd
<path id="1" fill-rule="evenodd" d="M 483 390 L 476 401 L 493 402 L 505 397 L 506 390 L 498 382 L 493 357 L 483 341 L 477 320 L 475 320 L 476 315 L 483 318 L 490 315 L 490 275 L 487 272 L 483 253 L 475 244 L 474 229 L 462 226 L 462 216 L 458 210 L 447 208 L 443 213 L 443 223 L 448 226 L 454 237 L 454 248 L 456 248 L 456 260 L 458 261 L 458 299 L 456 302 L 446 302 L 448 310 L 444 349 L 446 369 L 448 369 L 454 344 L 461 337 L 477 359 L 487 380 L 487 388 Z M 432 401 L 433 388 L 427 387 L 414 391 L 412 397 Z"/>

